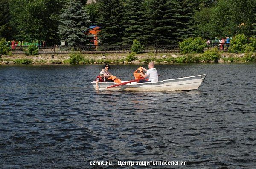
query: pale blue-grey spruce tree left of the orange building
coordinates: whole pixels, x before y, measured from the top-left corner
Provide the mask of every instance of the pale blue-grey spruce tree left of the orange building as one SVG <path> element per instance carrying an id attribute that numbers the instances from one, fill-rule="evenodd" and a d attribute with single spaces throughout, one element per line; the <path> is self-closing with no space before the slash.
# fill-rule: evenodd
<path id="1" fill-rule="evenodd" d="M 60 18 L 61 24 L 58 26 L 58 33 L 62 41 L 67 42 L 69 46 L 89 42 L 84 34 L 90 26 L 89 14 L 82 7 L 80 0 L 67 0 Z"/>

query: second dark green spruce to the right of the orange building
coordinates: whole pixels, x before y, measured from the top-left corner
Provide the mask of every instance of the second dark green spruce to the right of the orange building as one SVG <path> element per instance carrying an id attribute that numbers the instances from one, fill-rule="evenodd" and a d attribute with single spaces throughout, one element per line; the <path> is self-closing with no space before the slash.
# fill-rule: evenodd
<path id="1" fill-rule="evenodd" d="M 146 39 L 143 37 L 145 25 L 143 0 L 127 0 L 126 4 L 123 17 L 123 43 L 132 44 L 134 39 L 144 43 Z"/>

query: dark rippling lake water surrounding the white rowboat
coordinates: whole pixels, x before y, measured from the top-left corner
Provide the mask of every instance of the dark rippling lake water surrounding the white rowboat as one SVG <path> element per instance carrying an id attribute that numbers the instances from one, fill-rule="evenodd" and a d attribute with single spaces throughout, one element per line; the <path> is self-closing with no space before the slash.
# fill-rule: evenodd
<path id="1" fill-rule="evenodd" d="M 130 80 L 138 67 L 110 72 Z M 159 80 L 208 75 L 189 92 L 97 92 L 102 65 L 0 65 L 0 168 L 255 169 L 256 63 L 155 68 Z"/>

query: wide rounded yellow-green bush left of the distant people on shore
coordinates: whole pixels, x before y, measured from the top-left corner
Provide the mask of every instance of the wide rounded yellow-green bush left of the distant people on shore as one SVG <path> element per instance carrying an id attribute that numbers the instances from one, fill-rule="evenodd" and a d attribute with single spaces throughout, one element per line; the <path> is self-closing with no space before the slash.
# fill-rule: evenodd
<path id="1" fill-rule="evenodd" d="M 179 42 L 180 50 L 186 53 L 202 53 L 206 47 L 205 41 L 201 37 L 188 38 Z"/>

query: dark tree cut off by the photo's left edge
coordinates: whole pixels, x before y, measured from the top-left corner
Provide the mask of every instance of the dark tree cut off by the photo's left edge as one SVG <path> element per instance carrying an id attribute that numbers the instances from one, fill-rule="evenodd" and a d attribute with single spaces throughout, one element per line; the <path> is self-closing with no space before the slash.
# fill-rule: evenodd
<path id="1" fill-rule="evenodd" d="M 9 0 L 0 0 L 0 37 L 11 40 L 12 26 Z"/>

